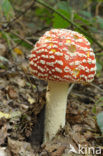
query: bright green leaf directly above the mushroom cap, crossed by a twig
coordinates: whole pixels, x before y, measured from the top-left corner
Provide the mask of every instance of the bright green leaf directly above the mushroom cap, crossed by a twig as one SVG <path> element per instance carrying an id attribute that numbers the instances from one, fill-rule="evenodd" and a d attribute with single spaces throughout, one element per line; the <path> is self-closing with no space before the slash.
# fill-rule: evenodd
<path id="1" fill-rule="evenodd" d="M 68 19 L 70 19 L 70 14 L 62 9 L 57 9 L 58 12 L 60 12 L 62 15 L 65 15 Z M 63 19 L 62 17 L 60 17 L 57 13 L 53 14 L 53 27 L 54 28 L 68 28 L 70 26 L 70 24 Z"/>

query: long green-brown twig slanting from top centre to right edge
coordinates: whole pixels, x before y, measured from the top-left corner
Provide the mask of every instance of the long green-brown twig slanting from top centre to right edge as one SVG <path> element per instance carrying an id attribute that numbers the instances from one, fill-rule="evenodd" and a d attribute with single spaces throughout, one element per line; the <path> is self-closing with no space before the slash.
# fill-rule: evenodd
<path id="1" fill-rule="evenodd" d="M 64 20 L 66 20 L 68 23 L 70 23 L 72 26 L 74 26 L 75 28 L 77 28 L 81 33 L 85 34 L 87 37 L 89 37 L 96 45 L 98 45 L 101 49 L 103 49 L 103 46 L 90 34 L 88 34 L 84 29 L 82 29 L 80 26 L 78 26 L 76 23 L 74 23 L 73 21 L 71 21 L 70 19 L 68 19 L 66 16 L 64 16 L 63 14 L 61 14 L 60 12 L 58 12 L 56 9 L 54 9 L 53 7 L 51 7 L 50 5 L 48 5 L 47 3 L 41 1 L 41 0 L 36 0 L 37 3 L 43 5 L 44 7 L 54 11 L 55 13 L 57 13 L 59 16 L 61 16 Z"/>

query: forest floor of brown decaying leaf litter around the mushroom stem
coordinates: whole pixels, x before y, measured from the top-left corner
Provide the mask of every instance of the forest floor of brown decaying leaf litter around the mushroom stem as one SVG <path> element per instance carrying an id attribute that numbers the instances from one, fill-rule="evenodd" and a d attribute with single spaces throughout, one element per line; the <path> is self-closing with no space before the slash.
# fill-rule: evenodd
<path id="1" fill-rule="evenodd" d="M 42 33 L 34 33 L 35 39 Z M 8 60 L 2 60 L 6 68 L 0 69 L 0 156 L 4 151 L 7 156 L 78 155 L 69 153 L 71 145 L 77 151 L 79 145 L 84 148 L 85 154 L 82 151 L 79 155 L 89 155 L 88 147 L 94 147 L 90 155 L 95 156 L 98 147 L 103 149 L 103 136 L 96 122 L 96 115 L 103 110 L 101 103 L 96 104 L 103 96 L 102 76 L 96 76 L 91 84 L 74 85 L 68 95 L 64 129 L 42 144 L 47 83 L 30 74 L 28 50 L 22 53 L 25 49 L 19 45 L 16 52 L 8 52 L 2 35 L 0 47 L 0 55 Z"/>

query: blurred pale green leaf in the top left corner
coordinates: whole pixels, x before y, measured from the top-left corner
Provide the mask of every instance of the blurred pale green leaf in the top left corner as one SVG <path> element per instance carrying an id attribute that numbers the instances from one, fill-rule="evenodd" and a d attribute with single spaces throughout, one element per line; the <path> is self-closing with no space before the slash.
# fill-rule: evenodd
<path id="1" fill-rule="evenodd" d="M 15 13 L 9 0 L 1 0 L 0 6 L 1 6 L 4 16 L 6 17 L 8 21 L 14 18 Z"/>

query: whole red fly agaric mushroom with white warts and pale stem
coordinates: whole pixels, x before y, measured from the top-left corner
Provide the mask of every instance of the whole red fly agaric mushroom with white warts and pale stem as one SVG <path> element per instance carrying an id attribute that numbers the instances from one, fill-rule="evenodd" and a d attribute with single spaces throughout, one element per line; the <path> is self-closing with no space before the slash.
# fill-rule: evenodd
<path id="1" fill-rule="evenodd" d="M 68 83 L 93 80 L 95 55 L 82 34 L 52 29 L 35 44 L 30 68 L 36 77 L 48 81 L 44 126 L 44 142 L 47 142 L 65 125 Z"/>

